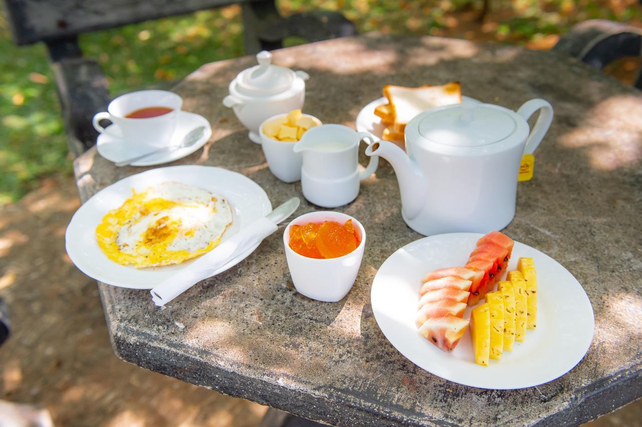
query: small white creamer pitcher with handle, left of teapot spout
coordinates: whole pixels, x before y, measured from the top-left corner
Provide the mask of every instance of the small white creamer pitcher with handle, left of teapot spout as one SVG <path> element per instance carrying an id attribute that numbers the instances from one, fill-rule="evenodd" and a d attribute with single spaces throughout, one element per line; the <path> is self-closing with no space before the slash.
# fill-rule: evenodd
<path id="1" fill-rule="evenodd" d="M 357 132 L 342 124 L 312 128 L 294 146 L 302 153 L 301 187 L 309 202 L 324 208 L 350 203 L 359 194 L 359 184 L 377 170 L 379 158 L 372 156 L 359 171 L 359 144 L 374 140 L 367 132 Z"/>

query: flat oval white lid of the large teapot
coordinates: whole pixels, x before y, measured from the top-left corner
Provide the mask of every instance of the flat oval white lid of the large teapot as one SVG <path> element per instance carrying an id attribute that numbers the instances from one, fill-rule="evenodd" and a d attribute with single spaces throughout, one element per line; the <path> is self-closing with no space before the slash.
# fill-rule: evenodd
<path id="1" fill-rule="evenodd" d="M 517 129 L 504 108 L 465 101 L 426 116 L 419 123 L 422 137 L 453 147 L 478 147 L 504 140 Z"/>

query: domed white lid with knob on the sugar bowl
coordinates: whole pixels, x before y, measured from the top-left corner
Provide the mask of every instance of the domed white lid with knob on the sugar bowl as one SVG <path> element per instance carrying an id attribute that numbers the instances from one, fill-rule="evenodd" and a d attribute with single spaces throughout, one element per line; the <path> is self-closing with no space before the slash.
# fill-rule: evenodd
<path id="1" fill-rule="evenodd" d="M 289 68 L 272 64 L 272 53 L 261 51 L 256 54 L 259 65 L 239 72 L 236 90 L 248 96 L 269 96 L 288 90 L 296 74 Z"/>

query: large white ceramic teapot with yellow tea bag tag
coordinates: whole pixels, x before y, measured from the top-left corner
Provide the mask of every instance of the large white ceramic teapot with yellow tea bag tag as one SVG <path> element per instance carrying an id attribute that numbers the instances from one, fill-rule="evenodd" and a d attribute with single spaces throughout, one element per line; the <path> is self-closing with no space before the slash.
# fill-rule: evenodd
<path id="1" fill-rule="evenodd" d="M 529 134 L 528 118 L 541 110 Z M 515 216 L 522 155 L 532 154 L 553 108 L 532 99 L 517 112 L 465 101 L 427 110 L 406 125 L 406 151 L 381 140 L 367 147 L 395 170 L 404 221 L 422 235 L 501 230 Z"/>

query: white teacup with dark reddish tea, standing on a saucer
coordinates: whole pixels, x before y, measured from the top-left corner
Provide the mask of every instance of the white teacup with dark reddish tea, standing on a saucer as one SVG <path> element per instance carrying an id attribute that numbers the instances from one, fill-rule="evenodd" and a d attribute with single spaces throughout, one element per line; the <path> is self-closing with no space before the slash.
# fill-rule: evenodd
<path id="1" fill-rule="evenodd" d="M 164 147 L 171 142 L 182 105 L 183 99 L 174 92 L 139 90 L 114 99 L 107 106 L 106 112 L 94 115 L 92 124 L 99 133 L 108 132 L 114 137 L 123 138 L 132 149 Z M 172 111 L 148 119 L 125 117 L 141 108 L 155 106 L 171 108 Z M 100 126 L 100 121 L 105 119 L 111 121 L 114 126 L 110 126 L 108 130 Z"/>

